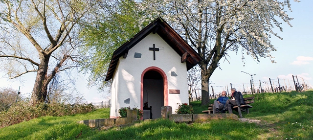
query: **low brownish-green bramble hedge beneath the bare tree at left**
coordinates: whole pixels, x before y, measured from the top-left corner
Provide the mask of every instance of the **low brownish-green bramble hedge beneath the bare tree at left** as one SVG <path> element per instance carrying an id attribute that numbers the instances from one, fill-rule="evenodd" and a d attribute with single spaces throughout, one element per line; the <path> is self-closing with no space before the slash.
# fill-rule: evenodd
<path id="1" fill-rule="evenodd" d="M 92 104 L 40 103 L 36 106 L 29 106 L 27 102 L 19 102 L 7 111 L 0 112 L 0 128 L 37 117 L 85 114 L 94 110 L 95 107 Z"/>

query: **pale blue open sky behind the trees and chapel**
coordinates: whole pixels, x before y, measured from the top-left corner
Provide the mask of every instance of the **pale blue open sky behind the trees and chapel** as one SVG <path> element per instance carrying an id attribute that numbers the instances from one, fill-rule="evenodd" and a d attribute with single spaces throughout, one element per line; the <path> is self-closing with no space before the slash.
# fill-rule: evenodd
<path id="1" fill-rule="evenodd" d="M 288 12 L 291 18 L 292 27 L 283 23 L 283 32 L 275 30 L 283 40 L 276 37 L 271 38 L 272 45 L 277 49 L 271 53 L 276 63 L 271 63 L 268 58 L 261 58 L 260 62 L 255 61 L 250 56 L 245 55 L 245 64 L 242 62 L 241 54 L 228 52 L 230 57 L 220 61 L 220 68 L 213 72 L 210 78 L 214 84 L 212 86 L 230 86 L 230 83 L 249 83 L 251 76 L 241 72 L 245 71 L 253 76 L 254 80 L 268 81 L 271 79 L 292 79 L 291 75 L 303 77 L 313 85 L 313 0 L 301 0 L 301 2 L 291 1 L 292 12 Z M 287 10 L 287 9 L 286 9 Z M 245 65 L 245 66 L 244 66 Z M 105 68 L 107 69 L 107 68 Z M 11 87 L 19 89 L 23 97 L 29 97 L 34 86 L 35 73 L 28 73 L 21 78 L 9 80 L 3 71 L 0 71 L 0 88 Z M 82 74 L 76 76 L 76 88 L 88 103 L 107 101 L 103 93 L 99 93 L 96 87 L 88 88 L 87 77 Z M 300 79 L 299 79 L 300 80 Z M 302 81 L 302 80 L 300 80 Z M 217 89 L 221 90 L 221 89 Z M 216 91 L 221 92 L 221 91 Z"/>

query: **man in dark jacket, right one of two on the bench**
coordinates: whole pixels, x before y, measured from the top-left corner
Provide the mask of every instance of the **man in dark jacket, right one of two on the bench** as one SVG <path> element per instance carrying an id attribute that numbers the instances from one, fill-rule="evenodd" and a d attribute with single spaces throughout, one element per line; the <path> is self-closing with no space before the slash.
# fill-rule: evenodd
<path id="1" fill-rule="evenodd" d="M 244 103 L 244 97 L 241 94 L 241 92 L 237 92 L 235 88 L 231 88 L 230 92 L 231 92 L 231 98 L 226 101 L 223 111 L 228 110 L 228 113 L 233 113 L 231 109 L 232 107 L 234 106 L 240 107 L 241 105 L 245 103 Z"/>

